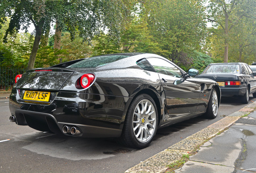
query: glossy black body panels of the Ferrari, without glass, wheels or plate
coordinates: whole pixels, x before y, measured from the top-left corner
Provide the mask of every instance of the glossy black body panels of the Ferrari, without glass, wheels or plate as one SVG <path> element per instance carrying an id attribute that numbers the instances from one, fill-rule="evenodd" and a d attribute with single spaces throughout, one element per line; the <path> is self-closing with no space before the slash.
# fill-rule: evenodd
<path id="1" fill-rule="evenodd" d="M 204 113 L 213 88 L 219 92 L 220 101 L 220 90 L 213 80 L 189 77 L 180 68 L 182 78 L 143 70 L 136 62 L 148 57 L 162 58 L 155 54 L 134 54 L 98 68 L 55 66 L 47 68 L 52 71 L 31 70 L 14 85 L 10 112 L 20 120 L 18 125 L 40 131 L 62 133 L 64 125 L 75 125 L 84 131 L 83 137 L 118 137 L 127 109 L 139 93 L 147 93 L 155 101 L 159 128 Z M 94 74 L 94 81 L 87 89 L 77 89 L 76 80 L 86 73 Z M 173 84 L 176 79 L 182 82 Z M 51 92 L 50 101 L 25 101 L 22 99 L 25 90 Z"/>

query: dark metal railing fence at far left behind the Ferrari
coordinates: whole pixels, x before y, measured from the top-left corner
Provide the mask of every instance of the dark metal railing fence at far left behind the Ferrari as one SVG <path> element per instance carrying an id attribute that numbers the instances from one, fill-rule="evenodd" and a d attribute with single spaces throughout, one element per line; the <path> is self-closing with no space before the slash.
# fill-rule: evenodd
<path id="1" fill-rule="evenodd" d="M 26 68 L 0 66 L 0 91 L 12 89 L 16 75 L 23 74 L 26 70 Z"/>

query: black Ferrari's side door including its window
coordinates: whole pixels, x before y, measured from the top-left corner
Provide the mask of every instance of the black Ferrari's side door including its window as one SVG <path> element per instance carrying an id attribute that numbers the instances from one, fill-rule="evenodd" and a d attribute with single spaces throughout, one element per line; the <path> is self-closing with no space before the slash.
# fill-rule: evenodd
<path id="1" fill-rule="evenodd" d="M 147 58 L 159 74 L 166 97 L 165 120 L 178 116 L 188 116 L 196 111 L 200 93 L 193 78 L 184 78 L 183 72 L 174 64 L 161 58 Z M 179 84 L 174 84 L 179 80 Z"/>

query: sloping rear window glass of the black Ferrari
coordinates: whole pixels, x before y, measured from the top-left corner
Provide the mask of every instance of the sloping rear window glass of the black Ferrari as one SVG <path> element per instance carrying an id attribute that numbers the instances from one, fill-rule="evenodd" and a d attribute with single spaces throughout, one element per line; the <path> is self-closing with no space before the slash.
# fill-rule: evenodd
<path id="1" fill-rule="evenodd" d="M 126 58 L 130 55 L 104 55 L 104 56 L 94 56 L 91 58 L 86 58 L 66 68 L 95 68 L 104 66 L 108 63 L 118 61 L 120 59 Z"/>

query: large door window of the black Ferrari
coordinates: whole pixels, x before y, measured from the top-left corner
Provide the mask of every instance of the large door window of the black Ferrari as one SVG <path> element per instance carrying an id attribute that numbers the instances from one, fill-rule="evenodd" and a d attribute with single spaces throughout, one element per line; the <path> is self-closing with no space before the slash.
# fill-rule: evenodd
<path id="1" fill-rule="evenodd" d="M 161 58 L 147 58 L 147 60 L 153 66 L 153 68 L 155 68 L 156 72 L 178 78 L 183 77 L 180 69 L 178 69 L 166 60 L 163 60 Z"/>

